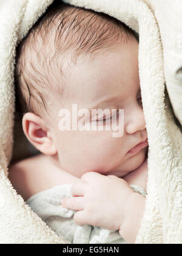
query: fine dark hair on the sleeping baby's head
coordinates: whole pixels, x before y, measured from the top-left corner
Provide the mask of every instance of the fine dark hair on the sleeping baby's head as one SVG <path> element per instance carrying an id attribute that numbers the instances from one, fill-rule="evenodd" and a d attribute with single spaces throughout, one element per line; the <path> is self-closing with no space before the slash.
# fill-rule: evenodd
<path id="1" fill-rule="evenodd" d="M 54 1 L 16 49 L 16 104 L 21 113 L 41 115 L 50 91 L 61 96 L 62 63 L 71 54 L 94 59 L 138 35 L 121 21 L 104 13 Z M 57 76 L 60 79 L 55 79 Z"/>

